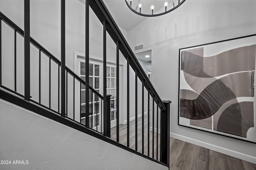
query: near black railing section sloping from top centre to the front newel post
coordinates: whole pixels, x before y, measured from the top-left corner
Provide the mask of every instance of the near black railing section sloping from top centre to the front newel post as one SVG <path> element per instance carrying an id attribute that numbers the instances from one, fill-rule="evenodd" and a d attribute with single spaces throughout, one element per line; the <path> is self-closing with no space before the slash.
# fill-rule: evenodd
<path id="1" fill-rule="evenodd" d="M 134 150 L 141 152 L 142 154 L 146 154 L 151 158 L 156 160 L 160 160 L 165 164 L 169 164 L 169 124 L 170 119 L 169 114 L 170 110 L 169 104 L 170 101 L 162 101 L 156 90 L 152 86 L 150 80 L 148 79 L 147 75 L 145 74 L 144 70 L 140 66 L 138 60 L 136 59 L 134 53 L 130 49 L 128 43 L 126 42 L 125 38 L 123 37 L 121 31 L 119 30 L 118 26 L 116 25 L 114 19 L 108 12 L 106 6 L 102 2 L 102 0 L 86 0 L 86 5 L 90 6 L 101 21 L 104 29 L 103 29 L 103 44 L 104 44 L 104 62 L 106 62 L 106 32 L 110 35 L 112 40 L 116 43 L 116 69 L 119 72 L 119 51 L 121 51 L 122 55 L 127 60 L 127 114 L 126 114 L 126 144 L 127 147 L 132 147 L 133 144 L 130 141 L 135 142 Z M 87 9 L 87 8 L 86 8 Z M 87 17 L 89 13 L 86 13 Z M 87 40 L 89 41 L 89 39 Z M 88 52 L 89 53 L 89 52 Z M 133 135 L 130 131 L 130 127 L 132 126 L 133 122 L 130 122 L 130 67 L 134 70 L 135 73 L 135 140 L 131 139 Z M 105 68 L 104 68 L 105 70 Z M 106 74 L 104 73 L 104 76 Z M 138 117 L 138 80 L 142 83 L 142 118 L 139 119 Z M 106 77 L 104 77 L 104 81 L 106 81 Z M 117 76 L 117 82 L 119 82 L 119 76 Z M 104 86 L 105 87 L 105 86 Z M 117 84 L 117 89 L 119 88 L 119 84 Z M 147 91 L 146 94 L 148 101 L 147 105 L 147 115 L 144 115 L 144 90 Z M 118 91 L 118 90 L 117 90 Z M 104 95 L 106 95 L 104 93 Z M 119 101 L 119 96 L 117 97 L 117 101 Z M 145 106 L 146 107 L 146 106 Z M 161 115 L 158 115 L 158 111 L 160 111 Z M 156 115 L 154 114 L 156 112 Z M 147 116 L 147 120 L 145 121 L 144 118 Z M 119 117 L 119 108 L 117 108 L 117 117 Z M 158 129 L 159 124 L 159 117 L 160 117 L 160 129 Z M 138 130 L 138 121 L 141 121 L 142 128 Z M 155 126 L 156 125 L 156 126 Z M 147 127 L 147 129 L 144 129 Z M 156 131 L 155 131 L 156 129 Z M 168 130 L 167 130 L 168 129 Z M 138 150 L 138 132 L 142 132 L 140 143 L 142 143 L 142 149 Z M 133 132 L 132 132 L 133 133 Z M 144 133 L 147 133 L 147 137 L 144 137 Z M 160 149 L 158 149 L 158 135 L 160 133 Z M 163 136 L 164 135 L 164 136 Z M 156 137 L 156 140 L 154 139 Z M 147 139 L 145 141 L 145 139 Z M 119 122 L 116 124 L 116 141 L 119 142 L 120 135 L 119 135 Z M 146 143 L 144 143 L 146 142 Z M 145 149 L 147 149 L 145 152 Z M 160 154 L 158 154 L 160 150 Z M 155 152 L 155 154 L 154 154 Z"/>

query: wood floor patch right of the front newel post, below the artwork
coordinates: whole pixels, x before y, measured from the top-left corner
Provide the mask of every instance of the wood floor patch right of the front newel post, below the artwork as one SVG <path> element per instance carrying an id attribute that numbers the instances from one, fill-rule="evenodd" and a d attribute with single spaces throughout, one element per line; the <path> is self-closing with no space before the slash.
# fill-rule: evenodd
<path id="1" fill-rule="evenodd" d="M 256 164 L 170 138 L 170 170 L 256 170 Z"/>

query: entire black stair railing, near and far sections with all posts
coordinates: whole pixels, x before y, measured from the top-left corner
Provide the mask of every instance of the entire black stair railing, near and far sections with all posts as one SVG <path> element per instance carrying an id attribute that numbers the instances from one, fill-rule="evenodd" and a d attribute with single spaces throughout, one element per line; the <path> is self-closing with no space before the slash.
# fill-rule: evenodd
<path id="1" fill-rule="evenodd" d="M 136 59 L 134 53 L 130 49 L 128 43 L 124 39 L 124 36 L 120 32 L 118 26 L 113 20 L 112 16 L 108 12 L 106 6 L 102 0 L 86 0 L 85 1 L 85 23 L 86 23 L 86 45 L 85 45 L 85 80 L 80 76 L 75 74 L 72 70 L 66 67 L 66 56 L 65 56 L 65 0 L 61 1 L 61 61 L 54 57 L 49 51 L 44 49 L 38 42 L 36 42 L 32 37 L 30 37 L 30 0 L 24 0 L 24 31 L 20 29 L 15 23 L 9 20 L 4 14 L 0 13 L 0 38 L 1 38 L 1 23 L 2 21 L 9 25 L 15 33 L 15 75 L 14 75 L 14 90 L 4 85 L 2 82 L 2 56 L 0 44 L 0 87 L 12 92 L 28 102 L 33 102 L 45 109 L 48 109 L 58 115 L 64 117 L 65 119 L 70 119 L 84 128 L 90 128 L 94 131 L 102 133 L 105 137 L 112 138 L 110 131 L 110 103 L 111 98 L 107 95 L 106 90 L 106 33 L 110 35 L 112 40 L 116 43 L 116 142 L 112 142 L 107 138 L 100 139 L 108 141 L 114 145 L 121 147 L 120 144 L 126 145 L 122 148 L 132 151 L 135 154 L 144 156 L 155 162 L 169 166 L 169 131 L 170 131 L 170 101 L 162 101 L 158 96 L 156 90 L 152 86 L 148 76 L 145 74 L 144 70 L 140 66 L 138 60 Z M 103 95 L 100 95 L 96 90 L 89 86 L 89 7 L 93 10 L 94 14 L 98 17 L 103 25 Z M 24 94 L 17 92 L 16 87 L 16 34 L 20 34 L 24 37 Z M 1 42 L 1 41 L 0 41 Z M 30 78 L 30 44 L 38 50 L 39 59 L 39 90 L 38 100 L 35 100 L 33 95 L 30 94 L 30 84 L 34 82 Z M 127 114 L 126 114 L 126 135 L 120 135 L 120 71 L 119 71 L 119 52 L 127 60 Z M 46 69 L 41 67 L 42 54 L 44 57 L 48 57 L 48 104 L 42 103 L 41 101 L 41 70 Z M 58 74 L 53 72 L 51 68 L 57 67 Z M 135 73 L 135 123 L 130 120 L 130 68 Z M 58 102 L 57 108 L 53 108 L 52 104 L 52 86 L 56 85 L 53 81 L 53 74 L 58 77 Z M 139 80 L 138 80 L 139 79 Z M 138 81 L 141 82 L 142 86 L 138 88 Z M 142 114 L 138 115 L 138 89 L 142 90 Z M 79 92 L 77 92 L 79 91 Z M 145 92 L 146 91 L 146 92 Z M 70 94 L 72 94 L 72 99 L 70 100 Z M 145 95 L 145 96 L 144 96 Z M 147 99 L 147 100 L 146 100 Z M 76 109 L 76 105 L 80 106 L 80 110 Z M 70 110 L 72 107 L 72 111 Z M 96 107 L 96 109 L 95 109 Z M 144 113 L 144 111 L 146 111 Z M 158 115 L 160 111 L 160 115 Z M 96 114 L 95 114 L 96 113 Z M 155 114 L 156 113 L 156 114 Z M 78 115 L 78 116 L 77 116 Z M 102 117 L 103 116 L 103 117 Z M 102 119 L 103 118 L 103 119 Z M 158 129 L 160 119 L 160 129 Z M 96 121 L 96 122 L 95 122 Z M 141 123 L 141 127 L 138 124 Z M 96 125 L 95 125 L 96 124 Z M 135 126 L 134 130 L 131 126 Z M 77 128 L 79 129 L 79 128 Z M 156 130 L 156 131 L 155 131 Z M 130 135 L 134 133 L 135 135 Z M 160 133 L 160 134 L 159 134 Z M 90 133 L 92 134 L 92 133 Z M 94 134 L 95 135 L 95 134 Z M 160 135 L 160 141 L 158 136 Z M 98 137 L 98 135 L 95 135 Z M 126 137 L 125 137 L 126 136 Z M 135 139 L 134 139 L 135 136 Z M 124 137 L 126 138 L 125 140 Z M 122 142 L 120 142 L 122 138 Z M 151 139 L 150 139 L 151 138 Z M 155 139 L 156 138 L 156 139 Z M 138 145 L 141 143 L 141 145 Z M 134 147 L 135 146 L 135 147 Z M 141 149 L 139 147 L 141 146 Z M 131 148 L 133 150 L 131 150 Z M 160 153 L 159 153 L 160 152 Z M 159 162 L 159 161 L 160 162 Z"/>

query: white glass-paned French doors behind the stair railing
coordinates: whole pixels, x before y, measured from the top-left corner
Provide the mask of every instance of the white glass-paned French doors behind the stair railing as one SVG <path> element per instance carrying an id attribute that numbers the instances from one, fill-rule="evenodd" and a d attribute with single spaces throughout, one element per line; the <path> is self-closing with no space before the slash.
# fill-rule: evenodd
<path id="1" fill-rule="evenodd" d="M 75 66 L 76 74 L 80 75 L 82 79 L 85 80 L 85 58 L 82 56 L 78 56 L 76 60 L 76 66 Z M 121 67 L 120 67 L 121 68 Z M 122 75 L 122 69 L 119 69 L 120 75 Z M 122 77 L 122 76 L 121 76 Z M 97 61 L 94 59 L 90 59 L 89 61 L 89 85 L 94 88 L 97 92 L 99 92 L 103 96 L 103 62 Z M 120 89 L 122 90 L 122 82 L 120 81 Z M 111 111 L 110 111 L 110 120 L 111 124 L 110 127 L 116 126 L 116 64 L 112 64 L 107 62 L 107 75 L 106 75 L 106 90 L 107 94 L 111 95 Z M 120 90 L 120 91 L 121 91 Z M 85 89 L 82 89 L 82 96 L 84 95 L 85 98 Z M 91 100 L 93 102 L 91 102 Z M 96 110 L 96 104 L 98 104 L 98 111 Z M 100 109 L 101 106 L 101 100 L 98 100 L 96 102 L 96 98 L 93 95 L 92 99 L 89 97 L 89 108 L 90 113 L 91 110 L 93 110 L 94 113 L 91 113 L 89 117 L 89 125 L 91 127 L 96 129 L 96 115 L 98 116 L 98 129 L 100 128 L 101 123 L 101 117 Z M 122 98 L 119 100 L 119 106 L 120 110 L 122 109 Z M 84 109 L 81 109 L 81 111 L 85 111 L 85 103 L 81 103 L 81 107 L 84 107 Z M 91 109 L 92 108 L 92 109 Z M 96 114 L 96 112 L 98 112 Z M 84 112 L 85 114 L 85 112 Z M 82 114 L 83 115 L 83 114 Z M 85 124 L 85 116 L 81 117 L 81 123 Z"/>

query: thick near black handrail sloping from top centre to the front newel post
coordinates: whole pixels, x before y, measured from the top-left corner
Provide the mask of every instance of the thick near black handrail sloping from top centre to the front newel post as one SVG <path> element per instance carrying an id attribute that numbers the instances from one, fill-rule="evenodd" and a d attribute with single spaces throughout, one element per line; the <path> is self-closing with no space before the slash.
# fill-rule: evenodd
<path id="1" fill-rule="evenodd" d="M 156 103 L 158 103 L 158 106 L 160 108 L 162 108 L 163 110 L 166 110 L 164 103 L 162 102 L 161 98 L 158 96 L 156 90 L 154 89 L 153 85 L 148 79 L 148 76 L 146 75 L 140 63 L 136 59 L 134 53 L 132 52 L 132 49 L 130 48 L 126 39 L 122 35 L 120 29 L 116 25 L 116 22 L 110 15 L 104 2 L 102 0 L 89 0 L 89 4 L 102 24 L 103 24 L 103 21 L 107 21 L 106 30 L 108 31 L 108 34 L 110 35 L 110 37 L 113 39 L 114 42 L 117 42 L 117 41 L 120 42 L 119 44 L 120 51 L 122 52 L 126 60 L 129 58 L 130 66 L 132 67 L 132 69 L 138 71 L 138 78 L 140 78 L 141 81 L 144 80 L 144 87 L 148 90 L 153 100 Z"/>

